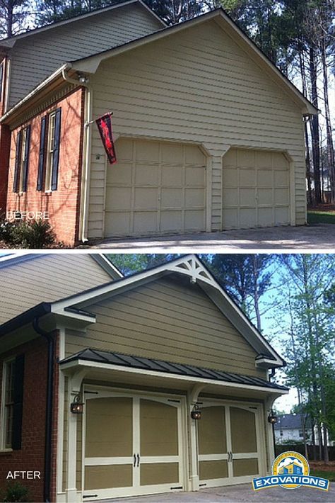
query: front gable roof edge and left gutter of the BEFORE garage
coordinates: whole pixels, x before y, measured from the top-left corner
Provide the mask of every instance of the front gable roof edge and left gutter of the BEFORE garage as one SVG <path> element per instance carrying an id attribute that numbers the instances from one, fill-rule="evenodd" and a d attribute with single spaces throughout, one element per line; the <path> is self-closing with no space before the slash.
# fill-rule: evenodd
<path id="1" fill-rule="evenodd" d="M 303 96 L 303 94 L 299 91 L 297 87 L 295 87 L 292 82 L 288 80 L 288 78 L 276 67 L 276 65 L 269 60 L 264 52 L 262 52 L 259 47 L 249 38 L 238 26 L 237 24 L 228 16 L 222 8 L 216 9 L 214 11 L 204 13 L 201 16 L 197 16 L 189 21 L 184 21 L 183 23 L 178 23 L 174 26 L 169 26 L 162 30 L 155 31 L 154 33 L 150 33 L 149 35 L 145 35 L 141 38 L 136 38 L 131 40 L 128 43 L 124 43 L 121 45 L 116 45 L 109 50 L 105 50 L 102 52 L 98 52 L 96 54 L 90 55 L 88 57 L 84 57 L 79 60 L 73 60 L 64 63 L 59 69 L 57 69 L 52 75 L 50 75 L 45 81 L 42 81 L 38 86 L 33 89 L 25 98 L 20 100 L 13 106 L 1 119 L 1 122 L 6 122 L 6 120 L 16 113 L 16 111 L 20 111 L 20 107 L 25 105 L 27 108 L 30 106 L 30 101 L 34 103 L 34 99 L 36 100 L 36 95 L 42 94 L 44 89 L 52 89 L 50 86 L 59 86 L 64 82 L 61 75 L 64 74 L 65 71 L 71 72 L 74 75 L 76 72 L 83 72 L 87 74 L 93 74 L 99 67 L 100 62 L 106 60 L 110 57 L 117 56 L 122 54 L 122 52 L 126 52 L 136 47 L 141 47 L 148 43 L 154 42 L 155 40 L 161 40 L 164 37 L 174 35 L 175 33 L 179 33 L 182 30 L 186 30 L 187 28 L 192 28 L 192 26 L 196 26 L 200 23 L 205 23 L 209 20 L 215 20 L 218 23 L 218 26 L 221 26 L 225 33 L 228 33 L 235 42 L 242 47 L 242 50 L 245 50 L 252 57 L 252 60 L 261 67 L 261 69 L 268 74 L 268 76 L 276 82 L 278 86 L 286 91 L 286 94 L 290 96 L 290 98 L 301 108 L 301 111 L 304 115 L 316 115 L 318 113 L 317 108 L 310 103 L 310 101 Z M 78 85 L 80 85 L 78 81 Z"/>

